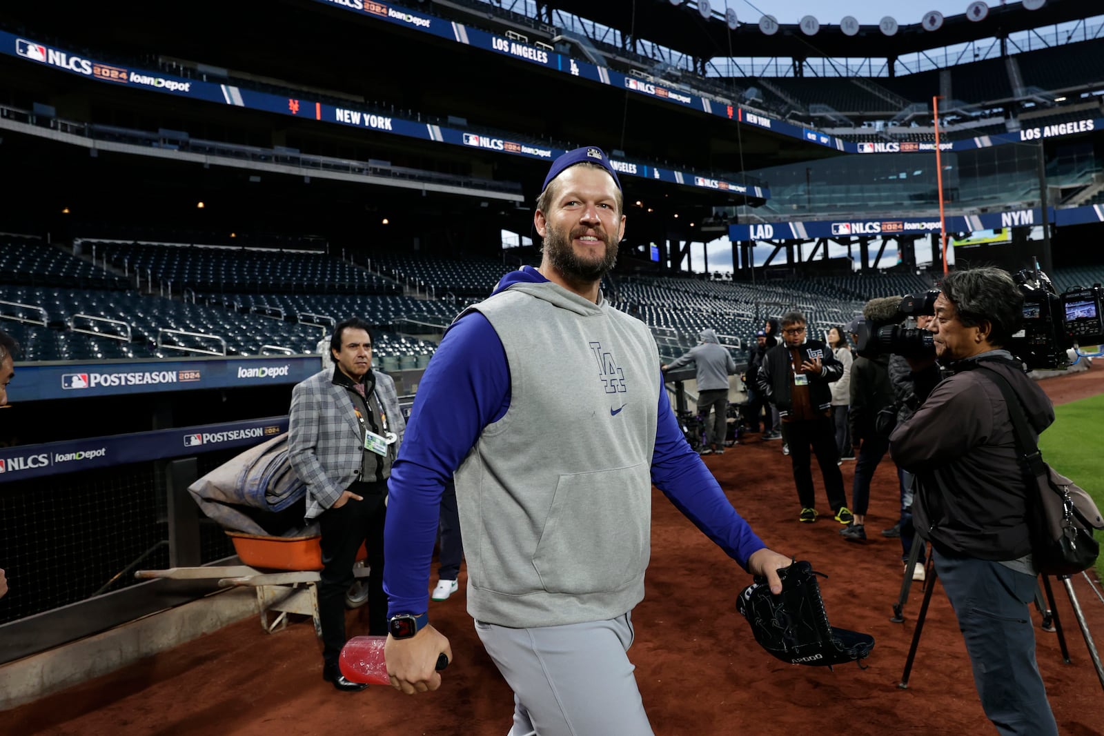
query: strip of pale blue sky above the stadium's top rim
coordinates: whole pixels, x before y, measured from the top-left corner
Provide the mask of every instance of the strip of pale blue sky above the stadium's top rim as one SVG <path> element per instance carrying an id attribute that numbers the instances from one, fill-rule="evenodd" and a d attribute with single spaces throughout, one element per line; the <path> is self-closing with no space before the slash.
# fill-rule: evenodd
<path id="1" fill-rule="evenodd" d="M 757 23 L 761 15 L 774 15 L 779 23 L 796 23 L 805 15 L 813 15 L 821 25 L 838 25 L 845 15 L 853 15 L 860 23 L 873 25 L 885 15 L 892 15 L 901 25 L 919 23 L 930 10 L 944 17 L 966 12 L 970 0 L 710 0 L 714 10 L 732 8 L 742 23 Z M 1002 0 L 987 0 L 989 8 L 1006 4 Z M 1019 4 L 1008 0 L 1007 4 Z"/>

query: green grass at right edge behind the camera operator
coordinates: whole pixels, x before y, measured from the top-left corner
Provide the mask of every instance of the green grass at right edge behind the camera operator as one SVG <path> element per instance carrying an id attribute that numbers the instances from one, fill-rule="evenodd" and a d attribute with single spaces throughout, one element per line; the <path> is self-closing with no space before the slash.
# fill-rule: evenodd
<path id="1" fill-rule="evenodd" d="M 1104 395 L 1054 407 L 1057 419 L 1039 437 L 1039 449 L 1049 465 L 1089 491 L 1104 510 Z M 1104 532 L 1096 532 L 1097 542 Z M 1104 554 L 1096 559 L 1104 579 Z"/>

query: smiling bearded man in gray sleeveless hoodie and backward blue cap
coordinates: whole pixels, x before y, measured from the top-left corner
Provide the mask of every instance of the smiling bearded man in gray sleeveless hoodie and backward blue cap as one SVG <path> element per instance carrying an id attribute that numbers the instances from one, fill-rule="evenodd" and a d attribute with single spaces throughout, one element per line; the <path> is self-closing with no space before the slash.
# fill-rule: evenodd
<path id="1" fill-rule="evenodd" d="M 510 733 L 647 735 L 626 652 L 652 483 L 776 593 L 790 559 L 752 532 L 682 437 L 648 328 L 602 297 L 625 231 L 608 157 L 569 151 L 542 190 L 540 268 L 507 275 L 453 323 L 415 397 L 389 481 L 388 671 L 394 687 L 425 692 L 440 686 L 438 654 L 452 659 L 426 611 L 455 474 L 468 612 L 513 689 Z"/>

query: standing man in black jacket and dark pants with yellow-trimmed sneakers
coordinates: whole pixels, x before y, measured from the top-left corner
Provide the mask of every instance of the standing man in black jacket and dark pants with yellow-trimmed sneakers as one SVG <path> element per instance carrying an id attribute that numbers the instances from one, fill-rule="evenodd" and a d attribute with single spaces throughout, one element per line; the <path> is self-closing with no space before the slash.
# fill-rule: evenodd
<path id="1" fill-rule="evenodd" d="M 843 476 L 836 465 L 836 427 L 828 386 L 843 374 L 843 365 L 825 343 L 806 339 L 806 320 L 800 312 L 788 312 L 782 318 L 782 337 L 783 343 L 763 356 L 758 384 L 782 416 L 794 483 L 802 502 L 798 521 L 810 524 L 817 520 L 809 467 L 811 446 L 836 521 L 850 524 L 852 515 L 847 508 Z"/>

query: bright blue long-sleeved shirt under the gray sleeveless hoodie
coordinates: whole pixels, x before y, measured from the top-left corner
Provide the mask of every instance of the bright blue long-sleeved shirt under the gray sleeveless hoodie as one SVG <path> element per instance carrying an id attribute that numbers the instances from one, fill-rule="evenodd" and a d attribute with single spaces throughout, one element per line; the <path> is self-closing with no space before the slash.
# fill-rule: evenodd
<path id="1" fill-rule="evenodd" d="M 506 276 L 546 280 L 526 267 Z M 658 358 L 657 358 L 658 360 Z M 550 366 L 549 370 L 555 370 Z M 418 385 L 406 434 L 389 481 L 383 584 L 389 616 L 428 608 L 429 567 L 440 495 L 484 427 L 510 407 L 510 370 L 498 333 L 479 312 L 469 312 L 445 333 Z M 651 481 L 709 538 L 746 569 L 763 542 L 736 513 L 716 479 L 690 449 L 660 388 Z"/>

